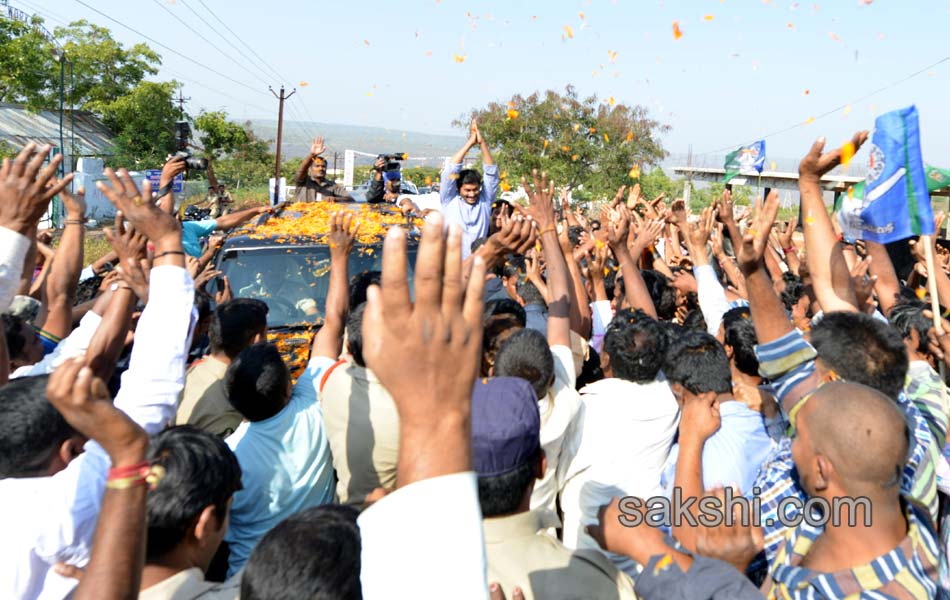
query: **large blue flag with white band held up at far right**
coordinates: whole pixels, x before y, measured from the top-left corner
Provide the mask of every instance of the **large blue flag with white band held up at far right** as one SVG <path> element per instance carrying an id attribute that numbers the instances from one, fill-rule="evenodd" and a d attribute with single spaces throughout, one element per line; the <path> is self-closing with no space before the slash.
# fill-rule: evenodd
<path id="1" fill-rule="evenodd" d="M 863 194 L 849 193 L 838 219 L 846 237 L 880 244 L 933 235 L 916 106 L 874 122 Z"/>

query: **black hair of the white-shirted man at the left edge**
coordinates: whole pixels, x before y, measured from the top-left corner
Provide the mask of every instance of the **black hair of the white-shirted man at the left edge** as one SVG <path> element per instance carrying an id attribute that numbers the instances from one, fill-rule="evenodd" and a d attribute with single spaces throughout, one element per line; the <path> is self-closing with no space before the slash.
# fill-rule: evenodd
<path id="1" fill-rule="evenodd" d="M 45 475 L 76 430 L 46 399 L 48 375 L 19 377 L 0 387 L 0 479 Z"/>

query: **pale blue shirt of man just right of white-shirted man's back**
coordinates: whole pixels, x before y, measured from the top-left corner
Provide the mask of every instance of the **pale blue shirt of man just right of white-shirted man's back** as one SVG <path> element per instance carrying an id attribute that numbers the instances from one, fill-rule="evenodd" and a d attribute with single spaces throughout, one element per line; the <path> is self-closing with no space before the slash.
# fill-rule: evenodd
<path id="1" fill-rule="evenodd" d="M 762 413 L 738 400 L 719 405 L 722 424 L 719 431 L 703 446 L 703 488 L 736 484 L 745 496 L 752 495 L 752 486 L 762 463 L 772 453 L 773 442 L 765 429 Z M 672 496 L 676 476 L 679 444 L 673 446 L 663 471 L 663 490 Z"/>

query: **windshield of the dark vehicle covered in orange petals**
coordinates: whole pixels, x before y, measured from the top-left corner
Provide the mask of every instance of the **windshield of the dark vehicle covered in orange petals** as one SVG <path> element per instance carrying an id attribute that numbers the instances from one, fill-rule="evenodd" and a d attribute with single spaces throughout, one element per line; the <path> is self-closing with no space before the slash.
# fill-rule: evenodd
<path id="1" fill-rule="evenodd" d="M 416 248 L 410 246 L 409 281 Z M 350 279 L 378 271 L 382 245 L 357 246 L 350 254 Z M 321 321 L 330 285 L 330 249 L 326 246 L 273 246 L 230 249 L 218 270 L 228 278 L 235 298 L 258 298 L 267 303 L 267 326 L 287 327 Z"/>

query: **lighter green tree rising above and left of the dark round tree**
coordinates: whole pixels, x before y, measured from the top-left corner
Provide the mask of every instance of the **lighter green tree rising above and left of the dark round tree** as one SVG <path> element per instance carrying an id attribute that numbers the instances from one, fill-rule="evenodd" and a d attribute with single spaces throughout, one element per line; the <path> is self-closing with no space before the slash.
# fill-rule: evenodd
<path id="1" fill-rule="evenodd" d="M 67 103 L 78 108 L 102 112 L 146 75 L 158 73 L 161 64 L 161 57 L 146 44 L 126 48 L 108 28 L 84 19 L 57 27 L 53 35 L 73 69 Z"/>

